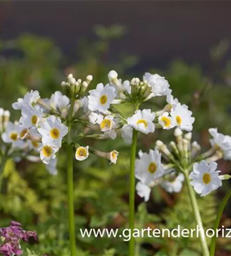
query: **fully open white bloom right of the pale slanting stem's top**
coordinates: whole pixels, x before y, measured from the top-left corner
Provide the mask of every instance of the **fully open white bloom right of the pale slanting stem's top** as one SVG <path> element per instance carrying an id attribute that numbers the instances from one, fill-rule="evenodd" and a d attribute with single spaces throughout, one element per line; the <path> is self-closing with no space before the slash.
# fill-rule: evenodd
<path id="1" fill-rule="evenodd" d="M 210 194 L 222 185 L 219 177 L 220 171 L 216 169 L 216 162 L 207 163 L 202 160 L 200 163 L 194 163 L 193 171 L 189 175 L 192 180 L 190 184 L 201 197 Z"/>

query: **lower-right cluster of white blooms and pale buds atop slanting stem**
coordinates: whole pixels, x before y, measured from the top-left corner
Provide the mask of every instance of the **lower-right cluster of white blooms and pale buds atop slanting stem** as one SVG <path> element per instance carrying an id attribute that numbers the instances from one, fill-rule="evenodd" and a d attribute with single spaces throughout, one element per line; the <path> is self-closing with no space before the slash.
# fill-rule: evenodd
<path id="1" fill-rule="evenodd" d="M 222 157 L 231 160 L 231 137 L 218 133 L 217 129 L 209 129 L 209 133 L 213 136 L 210 140 L 212 147 L 203 154 L 200 154 L 199 143 L 191 142 L 192 133 L 183 135 L 178 127 L 174 131 L 176 142 L 171 141 L 169 148 L 157 140 L 154 151 L 139 153 L 135 171 L 136 178 L 140 180 L 136 185 L 137 194 L 148 201 L 151 187 L 157 184 L 169 193 L 178 193 L 186 175 L 200 196 L 220 187 L 222 180 L 230 176 L 219 175 L 216 161 Z M 161 157 L 165 164 L 161 163 Z"/>

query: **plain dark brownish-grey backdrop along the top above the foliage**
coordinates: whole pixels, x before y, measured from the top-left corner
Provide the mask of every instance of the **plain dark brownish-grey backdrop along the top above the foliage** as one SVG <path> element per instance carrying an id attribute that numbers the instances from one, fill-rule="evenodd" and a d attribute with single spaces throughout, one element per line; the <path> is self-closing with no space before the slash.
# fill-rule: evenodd
<path id="1" fill-rule="evenodd" d="M 207 70 L 211 47 L 231 38 L 230 9 L 230 1 L 1 1 L 0 36 L 48 36 L 76 58 L 78 40 L 94 39 L 95 25 L 122 24 L 128 32 L 113 42 L 112 60 L 124 51 L 140 57 L 139 70 L 178 58 Z"/>

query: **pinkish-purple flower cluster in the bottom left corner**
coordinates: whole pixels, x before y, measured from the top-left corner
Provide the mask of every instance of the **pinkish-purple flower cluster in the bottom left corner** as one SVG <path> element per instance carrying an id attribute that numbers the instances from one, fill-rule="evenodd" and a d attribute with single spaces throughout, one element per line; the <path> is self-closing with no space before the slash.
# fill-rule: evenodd
<path id="1" fill-rule="evenodd" d="M 21 255 L 21 241 L 38 243 L 36 232 L 22 229 L 21 224 L 16 221 L 11 221 L 9 227 L 0 228 L 0 236 L 0 253 L 5 256 Z"/>

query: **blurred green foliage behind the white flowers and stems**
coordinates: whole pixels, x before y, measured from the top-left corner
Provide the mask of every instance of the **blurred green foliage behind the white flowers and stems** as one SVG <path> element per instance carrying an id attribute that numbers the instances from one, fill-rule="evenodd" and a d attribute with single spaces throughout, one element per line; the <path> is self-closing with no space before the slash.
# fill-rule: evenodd
<path id="1" fill-rule="evenodd" d="M 77 21 L 80 22 L 78 17 Z M 42 26 L 44 28 L 44 25 Z M 220 132 L 231 135 L 229 40 L 221 36 L 217 44 L 205 50 L 204 54 L 210 56 L 205 69 L 200 58 L 192 65 L 181 56 L 166 61 L 163 68 L 163 65 L 155 65 L 155 62 L 150 61 L 142 66 L 145 61 L 141 51 L 137 51 L 141 55 L 136 51 L 132 55 L 121 49 L 121 42 L 126 40 L 129 32 L 126 26 L 97 25 L 93 26 L 92 31 L 94 37 L 85 37 L 78 41 L 76 56 L 70 56 L 70 51 L 66 54 L 66 50 L 63 50 L 54 39 L 24 31 L 21 31 L 19 36 L 0 41 L 0 106 L 11 111 L 12 120 L 17 119 L 20 114 L 11 107 L 12 102 L 18 97 L 22 97 L 29 90 L 38 90 L 42 98 L 50 97 L 54 91 L 61 90 L 60 82 L 69 73 L 80 78 L 92 74 L 94 80 L 91 87 L 95 87 L 98 82 L 107 82 L 107 73 L 111 69 L 116 70 L 123 79 L 133 76 L 142 78 L 145 66 L 145 71 L 165 76 L 171 85 L 173 95 L 180 102 L 189 105 L 196 118 L 193 139 L 199 141 L 204 149 L 209 148 L 207 129 L 210 127 L 218 127 Z M 70 31 L 70 36 L 72 33 L 75 31 Z M 177 33 L 175 36 L 177 37 Z M 70 38 L 67 41 L 70 42 Z M 135 44 L 138 47 L 138 43 Z M 116 55 L 114 48 L 118 52 Z M 163 104 L 164 99 L 158 98 L 145 103 L 144 106 L 155 110 Z M 126 114 L 130 113 L 131 109 L 128 108 Z M 138 148 L 147 151 L 148 148 L 154 147 L 156 139 L 169 142 L 172 138 L 171 130 L 165 133 L 156 131 L 152 135 L 140 136 Z M 119 238 L 84 239 L 80 236 L 79 228 L 126 227 L 129 146 L 125 145 L 121 138 L 115 141 L 87 142 L 95 143 L 95 147 L 104 151 L 115 148 L 120 155 L 116 165 L 109 165 L 107 160 L 99 160 L 94 156 L 83 163 L 75 162 L 78 255 L 127 255 L 127 242 Z M 230 173 L 230 168 L 230 163 L 219 161 L 222 173 Z M 39 244 L 29 247 L 31 251 L 36 252 L 31 252 L 32 255 L 68 255 L 64 152 L 59 154 L 57 176 L 51 176 L 43 164 L 30 163 L 26 160 L 19 163 L 8 161 L 5 175 L 8 186 L 7 193 L 0 196 L 0 226 L 7 226 L 10 220 L 17 220 L 25 228 L 35 229 L 39 236 Z M 228 182 L 224 183 L 216 194 L 199 199 L 206 227 L 212 227 L 217 205 L 230 186 Z M 160 187 L 155 187 L 146 205 L 136 196 L 136 226 L 172 228 L 181 224 L 183 227 L 192 227 L 194 223 L 188 205 L 189 198 L 184 189 L 180 194 L 170 195 Z M 227 207 L 222 224 L 226 227 L 231 226 L 230 207 Z M 219 239 L 218 243 L 217 255 L 230 255 L 230 242 L 227 239 Z M 143 238 L 138 239 L 136 249 L 141 255 L 147 256 L 200 255 L 198 241 L 192 238 Z"/>

